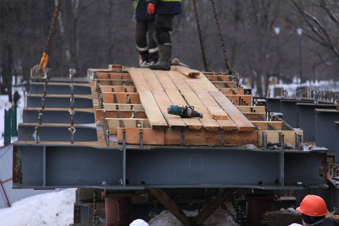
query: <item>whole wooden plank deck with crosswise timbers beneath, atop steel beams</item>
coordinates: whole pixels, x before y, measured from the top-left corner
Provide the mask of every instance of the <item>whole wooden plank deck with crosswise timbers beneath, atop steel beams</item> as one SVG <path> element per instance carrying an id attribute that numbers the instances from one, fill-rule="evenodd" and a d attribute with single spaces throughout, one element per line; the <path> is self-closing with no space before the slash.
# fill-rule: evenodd
<path id="1" fill-rule="evenodd" d="M 122 68 L 97 72 L 95 86 L 103 106 L 96 120 L 106 120 L 119 144 L 258 145 L 258 130 L 275 128 L 250 121 L 265 120 L 264 107 L 252 106 L 251 95 L 222 73 Z M 169 105 L 194 106 L 204 117 L 168 114 Z"/>

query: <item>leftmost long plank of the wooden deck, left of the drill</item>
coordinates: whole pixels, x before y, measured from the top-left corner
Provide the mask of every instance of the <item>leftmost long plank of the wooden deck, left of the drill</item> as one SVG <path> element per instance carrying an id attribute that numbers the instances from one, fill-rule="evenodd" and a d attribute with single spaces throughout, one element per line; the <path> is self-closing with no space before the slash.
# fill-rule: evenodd
<path id="1" fill-rule="evenodd" d="M 158 108 L 158 105 L 141 71 L 133 68 L 128 68 L 127 71 L 130 73 L 136 90 L 139 93 L 141 104 L 145 109 L 145 113 L 147 114 L 151 127 L 153 129 L 167 129 L 168 124 Z"/>

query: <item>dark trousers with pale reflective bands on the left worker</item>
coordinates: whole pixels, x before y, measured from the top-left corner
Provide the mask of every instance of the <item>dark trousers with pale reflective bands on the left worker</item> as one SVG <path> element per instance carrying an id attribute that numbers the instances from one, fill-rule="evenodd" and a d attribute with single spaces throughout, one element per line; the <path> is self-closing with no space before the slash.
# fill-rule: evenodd
<path id="1" fill-rule="evenodd" d="M 147 44 L 148 33 L 148 44 Z M 156 62 L 158 60 L 158 47 L 153 38 L 154 20 L 136 20 L 135 43 L 143 61 Z"/>

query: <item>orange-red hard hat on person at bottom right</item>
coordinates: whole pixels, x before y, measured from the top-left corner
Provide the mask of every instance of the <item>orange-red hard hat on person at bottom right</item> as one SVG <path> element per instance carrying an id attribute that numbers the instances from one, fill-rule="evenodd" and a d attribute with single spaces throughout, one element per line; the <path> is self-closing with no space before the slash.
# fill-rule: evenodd
<path id="1" fill-rule="evenodd" d="M 313 217 L 324 216 L 328 213 L 325 201 L 317 195 L 306 195 L 297 210 Z"/>

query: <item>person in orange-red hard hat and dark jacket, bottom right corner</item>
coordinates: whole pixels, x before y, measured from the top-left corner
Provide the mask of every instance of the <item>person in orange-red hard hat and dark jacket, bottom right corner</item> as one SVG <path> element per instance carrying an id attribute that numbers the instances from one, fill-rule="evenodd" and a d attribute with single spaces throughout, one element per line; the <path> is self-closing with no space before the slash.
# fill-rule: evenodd
<path id="1" fill-rule="evenodd" d="M 325 218 L 328 213 L 326 203 L 317 195 L 306 195 L 297 210 L 301 212 L 302 226 L 339 226 L 339 222 L 334 218 Z"/>

